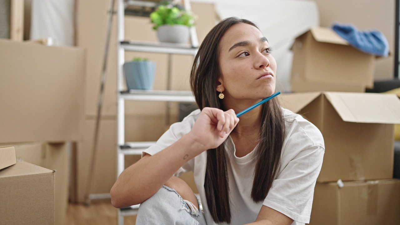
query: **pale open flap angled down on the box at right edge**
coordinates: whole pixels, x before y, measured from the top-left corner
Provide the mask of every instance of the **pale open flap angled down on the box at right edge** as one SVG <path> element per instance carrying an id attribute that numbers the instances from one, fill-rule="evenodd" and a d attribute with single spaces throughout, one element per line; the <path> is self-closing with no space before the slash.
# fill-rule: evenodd
<path id="1" fill-rule="evenodd" d="M 400 124 L 400 100 L 395 94 L 324 92 L 343 121 Z"/>

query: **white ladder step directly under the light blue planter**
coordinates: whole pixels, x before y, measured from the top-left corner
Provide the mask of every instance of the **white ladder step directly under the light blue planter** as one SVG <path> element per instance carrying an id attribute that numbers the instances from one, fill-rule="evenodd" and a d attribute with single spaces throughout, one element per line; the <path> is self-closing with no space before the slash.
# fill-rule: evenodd
<path id="1" fill-rule="evenodd" d="M 121 97 L 125 100 L 167 101 L 167 102 L 194 102 L 191 91 L 184 90 L 129 90 L 122 91 Z"/>

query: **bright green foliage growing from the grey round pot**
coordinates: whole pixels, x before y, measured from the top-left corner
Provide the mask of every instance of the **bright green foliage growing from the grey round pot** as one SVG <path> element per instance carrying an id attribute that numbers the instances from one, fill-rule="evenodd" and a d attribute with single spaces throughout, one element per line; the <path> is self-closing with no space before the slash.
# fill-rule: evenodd
<path id="1" fill-rule="evenodd" d="M 196 16 L 178 5 L 166 4 L 158 6 L 156 10 L 150 14 L 150 19 L 154 24 L 153 29 L 157 30 L 159 26 L 166 24 L 180 24 L 191 27 L 194 25 Z"/>

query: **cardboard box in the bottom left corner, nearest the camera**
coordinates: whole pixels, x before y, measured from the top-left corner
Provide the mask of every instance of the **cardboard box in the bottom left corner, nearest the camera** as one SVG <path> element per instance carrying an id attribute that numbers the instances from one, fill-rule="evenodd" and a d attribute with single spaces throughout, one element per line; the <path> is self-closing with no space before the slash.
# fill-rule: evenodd
<path id="1" fill-rule="evenodd" d="M 0 223 L 54 224 L 54 172 L 23 161 L 0 170 Z"/>

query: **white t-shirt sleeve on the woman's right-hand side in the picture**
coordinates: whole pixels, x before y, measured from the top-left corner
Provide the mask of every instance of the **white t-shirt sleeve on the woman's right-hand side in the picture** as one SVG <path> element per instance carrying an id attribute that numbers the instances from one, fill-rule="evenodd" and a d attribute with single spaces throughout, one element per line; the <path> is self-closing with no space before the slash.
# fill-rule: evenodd
<path id="1" fill-rule="evenodd" d="M 320 141 L 310 141 L 310 137 L 301 128 L 300 135 L 290 137 L 284 149 L 288 156 L 282 157 L 280 173 L 263 202 L 263 205 L 299 223 L 310 222 L 314 187 L 325 153 L 322 135 L 318 129 L 312 129 L 312 138 Z"/>

